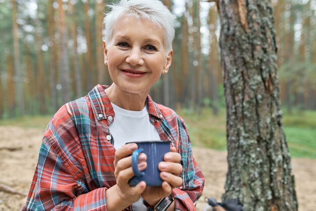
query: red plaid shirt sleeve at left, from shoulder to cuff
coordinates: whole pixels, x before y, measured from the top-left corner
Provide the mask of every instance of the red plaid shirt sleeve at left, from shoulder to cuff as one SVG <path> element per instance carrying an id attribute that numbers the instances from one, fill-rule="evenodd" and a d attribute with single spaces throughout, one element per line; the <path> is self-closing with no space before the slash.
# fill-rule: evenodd
<path id="1" fill-rule="evenodd" d="M 25 210 L 107 210 L 107 187 L 91 187 L 79 135 L 66 109 L 47 126 Z M 74 153 L 75 152 L 75 153 Z"/>

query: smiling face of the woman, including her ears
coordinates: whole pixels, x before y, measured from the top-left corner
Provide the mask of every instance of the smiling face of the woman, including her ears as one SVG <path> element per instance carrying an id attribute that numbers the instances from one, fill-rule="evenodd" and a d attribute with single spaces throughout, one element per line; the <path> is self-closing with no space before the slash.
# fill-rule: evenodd
<path id="1" fill-rule="evenodd" d="M 168 71 L 172 51 L 166 52 L 163 37 L 162 29 L 147 20 L 123 17 L 117 21 L 111 42 L 105 44 L 104 61 L 121 90 L 148 93 Z"/>

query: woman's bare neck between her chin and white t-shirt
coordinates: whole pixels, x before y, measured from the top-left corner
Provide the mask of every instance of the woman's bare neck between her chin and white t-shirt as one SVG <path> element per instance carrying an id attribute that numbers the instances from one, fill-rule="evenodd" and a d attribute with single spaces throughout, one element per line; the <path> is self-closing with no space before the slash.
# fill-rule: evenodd
<path id="1" fill-rule="evenodd" d="M 115 83 L 112 83 L 105 92 L 115 105 L 130 111 L 141 111 L 145 106 L 149 90 L 148 92 L 134 94 L 121 90 Z"/>

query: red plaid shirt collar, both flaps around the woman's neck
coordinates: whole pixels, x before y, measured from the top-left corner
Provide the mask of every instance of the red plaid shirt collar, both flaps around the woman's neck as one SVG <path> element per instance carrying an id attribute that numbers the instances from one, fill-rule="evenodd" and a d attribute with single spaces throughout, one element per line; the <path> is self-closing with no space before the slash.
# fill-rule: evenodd
<path id="1" fill-rule="evenodd" d="M 104 91 L 109 86 L 96 85 L 88 94 L 91 102 L 91 107 L 98 121 L 103 119 L 113 118 L 115 116 L 111 101 Z M 147 96 L 147 106 L 149 115 L 155 116 L 156 118 L 164 119 L 160 109 L 157 108 L 157 104 L 153 102 L 151 97 Z M 110 120 L 110 119 L 109 119 Z"/>

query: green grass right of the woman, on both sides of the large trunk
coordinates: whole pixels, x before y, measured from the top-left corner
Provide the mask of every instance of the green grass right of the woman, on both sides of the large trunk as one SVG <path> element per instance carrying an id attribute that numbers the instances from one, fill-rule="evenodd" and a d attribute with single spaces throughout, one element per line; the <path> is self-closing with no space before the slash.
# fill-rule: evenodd
<path id="1" fill-rule="evenodd" d="M 193 146 L 226 150 L 224 110 L 218 116 L 210 109 L 202 110 L 200 116 L 185 109 L 177 112 L 188 126 Z M 316 111 L 285 112 L 283 126 L 291 156 L 316 159 Z"/>

